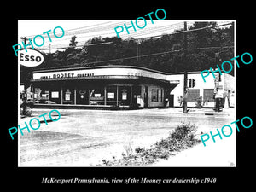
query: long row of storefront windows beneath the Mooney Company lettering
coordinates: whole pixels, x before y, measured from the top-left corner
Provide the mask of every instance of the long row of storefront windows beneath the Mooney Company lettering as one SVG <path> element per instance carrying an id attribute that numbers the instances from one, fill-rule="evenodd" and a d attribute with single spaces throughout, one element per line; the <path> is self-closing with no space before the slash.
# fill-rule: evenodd
<path id="1" fill-rule="evenodd" d="M 141 86 L 131 84 L 57 84 L 34 88 L 35 104 L 125 106 L 142 103 Z M 160 100 L 159 90 L 155 93 Z"/>

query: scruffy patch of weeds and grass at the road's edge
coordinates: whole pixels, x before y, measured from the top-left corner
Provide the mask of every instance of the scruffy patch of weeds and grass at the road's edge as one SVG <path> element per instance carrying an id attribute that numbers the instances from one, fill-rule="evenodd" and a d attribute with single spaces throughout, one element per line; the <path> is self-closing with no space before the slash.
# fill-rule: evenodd
<path id="1" fill-rule="evenodd" d="M 200 140 L 195 139 L 195 125 L 185 124 L 178 125 L 166 139 L 161 139 L 154 143 L 151 148 L 131 148 L 131 143 L 125 146 L 125 153 L 122 158 L 116 160 L 102 160 L 106 166 L 147 166 L 160 159 L 168 159 L 173 152 L 191 148 Z"/>

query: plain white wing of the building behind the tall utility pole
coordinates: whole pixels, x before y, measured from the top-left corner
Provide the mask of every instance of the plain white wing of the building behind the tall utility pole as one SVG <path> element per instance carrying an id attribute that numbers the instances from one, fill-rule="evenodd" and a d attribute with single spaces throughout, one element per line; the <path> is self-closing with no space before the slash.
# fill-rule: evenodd
<path id="1" fill-rule="evenodd" d="M 217 75 L 216 75 L 217 76 Z M 177 80 L 177 84 L 174 89 L 171 90 L 169 96 L 170 107 L 182 107 L 183 104 L 183 73 L 168 73 L 166 75 L 167 80 Z M 231 93 L 235 93 L 236 80 L 235 77 L 228 73 L 222 73 L 218 85 L 215 84 L 212 73 L 206 78 L 206 82 L 201 77 L 201 72 L 189 72 L 187 82 L 188 94 L 187 94 L 187 105 L 188 107 L 195 107 L 196 100 L 201 97 L 201 105 L 204 108 L 214 107 L 214 96 L 216 93 L 221 93 L 224 102 L 228 100 L 229 107 L 234 107 L 234 103 L 230 106 Z"/>

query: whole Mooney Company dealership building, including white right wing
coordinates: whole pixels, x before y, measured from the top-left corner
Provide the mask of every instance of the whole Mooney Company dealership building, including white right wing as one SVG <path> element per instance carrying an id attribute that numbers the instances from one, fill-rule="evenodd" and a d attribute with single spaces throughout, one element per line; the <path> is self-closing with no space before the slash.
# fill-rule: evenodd
<path id="1" fill-rule="evenodd" d="M 183 78 L 183 73 L 134 66 L 49 69 L 32 73 L 31 91 L 35 108 L 181 107 Z M 235 78 L 223 73 L 221 79 L 219 88 L 230 103 Z M 213 77 L 205 83 L 200 72 L 188 73 L 188 107 L 195 107 L 199 96 L 203 107 L 213 107 L 214 93 Z"/>

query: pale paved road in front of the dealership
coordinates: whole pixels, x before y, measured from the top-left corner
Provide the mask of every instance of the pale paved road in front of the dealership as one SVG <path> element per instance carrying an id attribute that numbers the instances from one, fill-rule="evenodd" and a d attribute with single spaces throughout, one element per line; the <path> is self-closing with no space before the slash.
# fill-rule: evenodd
<path id="1" fill-rule="evenodd" d="M 32 114 L 38 117 L 49 111 L 33 109 Z M 201 133 L 235 119 L 226 115 L 173 113 L 172 109 L 59 111 L 60 120 L 20 136 L 20 166 L 96 166 L 103 159 L 121 157 L 129 148 L 148 148 L 182 122 L 195 124 Z M 24 121 L 29 118 L 21 119 L 19 124 Z"/>

